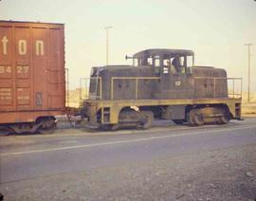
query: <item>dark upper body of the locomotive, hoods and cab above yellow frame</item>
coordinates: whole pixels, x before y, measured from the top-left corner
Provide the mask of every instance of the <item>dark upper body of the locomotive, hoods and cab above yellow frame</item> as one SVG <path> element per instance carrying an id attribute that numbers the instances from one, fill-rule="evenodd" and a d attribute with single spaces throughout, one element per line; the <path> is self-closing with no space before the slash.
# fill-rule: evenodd
<path id="1" fill-rule="evenodd" d="M 97 95 L 98 100 L 228 97 L 226 70 L 193 66 L 191 50 L 148 49 L 133 58 L 137 65 L 94 67 L 90 94 Z"/>

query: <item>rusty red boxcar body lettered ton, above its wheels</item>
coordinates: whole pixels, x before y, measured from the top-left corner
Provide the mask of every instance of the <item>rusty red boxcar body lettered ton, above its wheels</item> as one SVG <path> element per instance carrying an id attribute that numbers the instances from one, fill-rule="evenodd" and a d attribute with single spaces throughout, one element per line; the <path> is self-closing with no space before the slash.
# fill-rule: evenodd
<path id="1" fill-rule="evenodd" d="M 0 21 L 0 123 L 64 107 L 64 25 Z"/>

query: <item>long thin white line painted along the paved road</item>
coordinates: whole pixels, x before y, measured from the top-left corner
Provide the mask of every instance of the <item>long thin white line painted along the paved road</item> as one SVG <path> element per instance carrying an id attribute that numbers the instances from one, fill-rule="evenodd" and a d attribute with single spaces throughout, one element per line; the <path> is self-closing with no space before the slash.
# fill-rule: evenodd
<path id="1" fill-rule="evenodd" d="M 88 147 L 124 144 L 124 143 L 139 142 L 139 141 L 149 141 L 149 140 L 169 138 L 169 137 L 196 136 L 196 135 L 200 135 L 200 134 L 220 133 L 220 132 L 226 132 L 226 131 L 238 131 L 238 130 L 250 129 L 250 128 L 256 128 L 256 125 L 244 126 L 244 127 L 240 127 L 240 128 L 226 128 L 226 129 L 220 129 L 220 130 L 214 130 L 214 131 L 210 130 L 210 131 L 202 131 L 202 132 L 192 132 L 189 134 L 174 134 L 174 135 L 160 136 L 160 137 L 140 137 L 140 138 L 136 138 L 136 139 L 117 140 L 117 141 L 101 142 L 101 143 L 94 143 L 94 144 L 66 146 L 66 147 L 59 147 L 59 148 L 49 148 L 49 149 L 33 150 L 33 151 L 26 151 L 26 152 L 2 153 L 2 154 L 0 154 L 0 156 L 25 155 L 25 154 L 34 154 L 34 153 L 71 150 L 71 149 L 81 149 L 81 148 L 88 148 Z"/>

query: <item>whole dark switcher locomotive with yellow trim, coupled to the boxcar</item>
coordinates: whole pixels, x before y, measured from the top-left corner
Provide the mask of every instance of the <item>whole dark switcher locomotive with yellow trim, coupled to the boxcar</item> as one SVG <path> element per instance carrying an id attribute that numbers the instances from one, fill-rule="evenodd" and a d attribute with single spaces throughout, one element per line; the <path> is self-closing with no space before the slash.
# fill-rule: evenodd
<path id="1" fill-rule="evenodd" d="M 241 118 L 241 94 L 229 97 L 225 69 L 194 65 L 185 49 L 146 49 L 132 65 L 93 67 L 89 98 L 83 100 L 87 126 L 116 130 L 123 126 L 149 128 L 154 119 L 199 126 Z M 238 95 L 238 96 L 237 96 Z"/>

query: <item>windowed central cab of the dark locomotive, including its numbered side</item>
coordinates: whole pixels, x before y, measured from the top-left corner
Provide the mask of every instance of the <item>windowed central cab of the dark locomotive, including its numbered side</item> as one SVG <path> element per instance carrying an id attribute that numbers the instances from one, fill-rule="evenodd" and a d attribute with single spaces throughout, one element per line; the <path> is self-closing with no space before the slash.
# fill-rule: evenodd
<path id="1" fill-rule="evenodd" d="M 133 57 L 134 66 L 151 66 L 159 77 L 153 92 L 155 99 L 192 98 L 194 54 L 186 49 L 147 49 Z"/>

